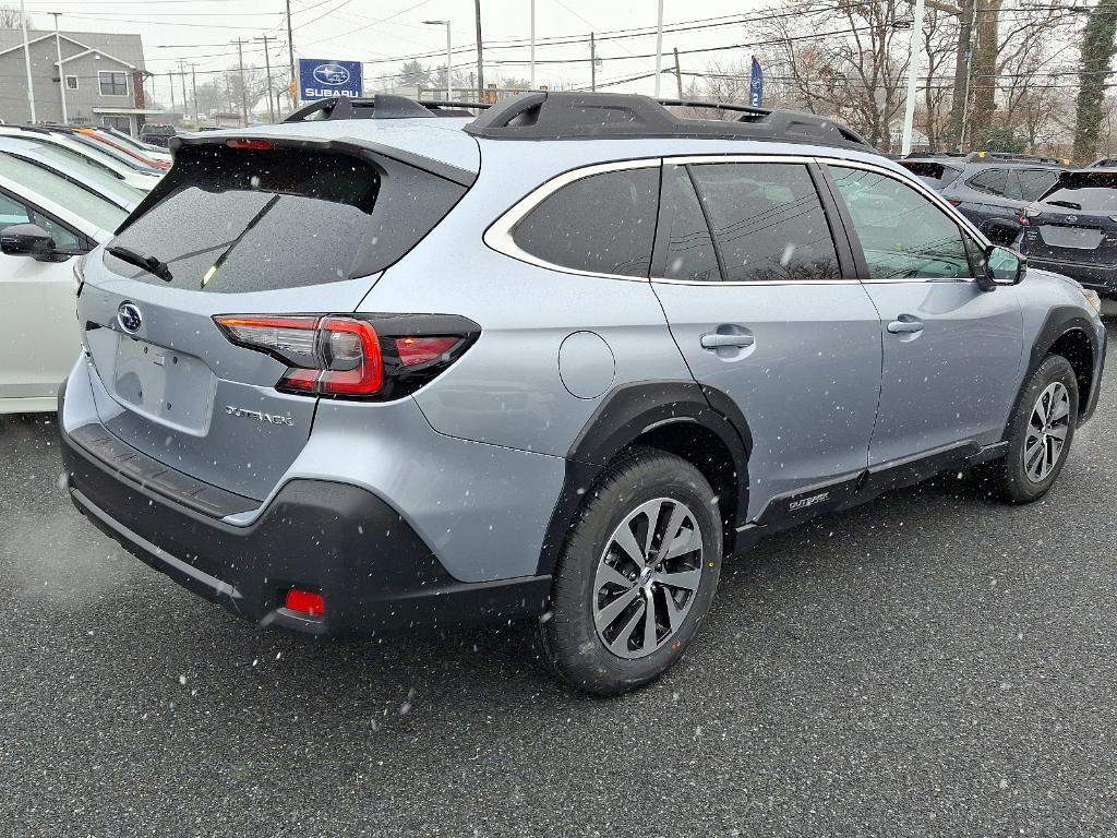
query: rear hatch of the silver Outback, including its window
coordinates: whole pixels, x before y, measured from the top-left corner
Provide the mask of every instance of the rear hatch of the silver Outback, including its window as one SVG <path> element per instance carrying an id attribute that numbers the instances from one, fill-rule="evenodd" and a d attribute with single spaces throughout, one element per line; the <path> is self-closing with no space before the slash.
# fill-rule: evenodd
<path id="1" fill-rule="evenodd" d="M 83 268 L 98 413 L 142 454 L 261 501 L 311 431 L 322 391 L 284 382 L 316 363 L 318 324 L 344 320 L 472 174 L 338 141 L 178 142 L 173 170 Z"/>

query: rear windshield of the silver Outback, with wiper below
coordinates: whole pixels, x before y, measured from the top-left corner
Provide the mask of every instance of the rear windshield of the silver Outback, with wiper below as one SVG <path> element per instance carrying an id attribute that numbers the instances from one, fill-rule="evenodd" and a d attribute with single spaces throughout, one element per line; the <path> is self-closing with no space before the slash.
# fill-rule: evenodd
<path id="1" fill-rule="evenodd" d="M 185 152 L 185 153 L 183 153 Z M 382 270 L 465 187 L 414 166 L 297 149 L 194 146 L 109 247 L 166 265 L 165 282 L 106 251 L 114 273 L 175 288 L 241 293 Z"/>

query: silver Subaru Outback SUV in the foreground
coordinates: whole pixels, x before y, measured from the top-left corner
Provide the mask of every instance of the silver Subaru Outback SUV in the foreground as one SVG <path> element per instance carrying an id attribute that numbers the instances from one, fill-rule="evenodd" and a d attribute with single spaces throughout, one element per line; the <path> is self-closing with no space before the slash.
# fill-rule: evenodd
<path id="1" fill-rule="evenodd" d="M 731 115 L 378 96 L 172 140 L 78 272 L 74 504 L 260 625 L 523 620 L 617 694 L 768 533 L 946 468 L 1042 497 L 1096 297 L 839 124 Z"/>

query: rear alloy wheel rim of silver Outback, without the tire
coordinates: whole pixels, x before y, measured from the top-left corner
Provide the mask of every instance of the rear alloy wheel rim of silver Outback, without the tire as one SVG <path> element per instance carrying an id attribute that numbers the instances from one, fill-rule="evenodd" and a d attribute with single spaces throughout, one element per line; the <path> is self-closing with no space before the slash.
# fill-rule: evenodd
<path id="1" fill-rule="evenodd" d="M 593 623 L 611 653 L 642 658 L 679 630 L 701 581 L 701 531 L 669 497 L 641 504 L 609 539 L 593 580 Z"/>

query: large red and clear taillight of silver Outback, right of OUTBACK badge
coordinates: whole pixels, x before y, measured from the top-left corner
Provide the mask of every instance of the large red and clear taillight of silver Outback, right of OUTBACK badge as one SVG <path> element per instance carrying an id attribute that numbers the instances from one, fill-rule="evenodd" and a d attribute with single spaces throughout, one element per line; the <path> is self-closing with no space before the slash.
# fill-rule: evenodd
<path id="1" fill-rule="evenodd" d="M 283 392 L 340 399 L 398 399 L 454 363 L 480 327 L 454 315 L 221 315 L 239 346 L 287 364 Z"/>

